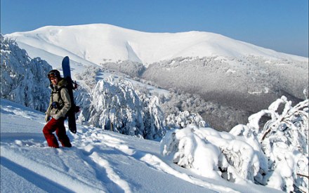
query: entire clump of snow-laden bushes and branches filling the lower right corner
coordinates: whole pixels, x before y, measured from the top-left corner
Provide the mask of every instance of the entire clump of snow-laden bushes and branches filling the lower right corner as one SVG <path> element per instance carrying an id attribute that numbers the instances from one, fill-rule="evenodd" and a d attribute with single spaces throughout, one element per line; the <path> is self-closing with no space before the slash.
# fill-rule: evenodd
<path id="1" fill-rule="evenodd" d="M 264 115 L 270 119 L 261 127 Z M 161 153 L 208 178 L 308 192 L 308 100 L 292 107 L 282 96 L 230 133 L 197 126 L 173 129 L 162 139 Z"/>

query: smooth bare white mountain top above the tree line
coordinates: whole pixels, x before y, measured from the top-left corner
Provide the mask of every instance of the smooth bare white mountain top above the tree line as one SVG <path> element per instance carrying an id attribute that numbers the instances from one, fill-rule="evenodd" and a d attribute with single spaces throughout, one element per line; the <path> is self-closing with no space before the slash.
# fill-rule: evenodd
<path id="1" fill-rule="evenodd" d="M 308 60 L 209 32 L 147 33 L 106 24 L 48 26 L 31 32 L 7 34 L 6 37 L 16 39 L 30 57 L 39 55 L 51 65 L 58 61 L 55 56 L 64 55 L 86 65 L 131 60 L 147 66 L 177 57 L 213 55 Z"/>

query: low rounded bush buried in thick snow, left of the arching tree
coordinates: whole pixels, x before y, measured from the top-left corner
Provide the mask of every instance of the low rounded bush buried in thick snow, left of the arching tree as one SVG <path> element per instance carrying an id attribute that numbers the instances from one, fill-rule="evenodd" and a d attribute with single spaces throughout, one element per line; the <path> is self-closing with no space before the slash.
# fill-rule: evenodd
<path id="1" fill-rule="evenodd" d="M 199 175 L 232 182 L 254 180 L 260 167 L 267 165 L 249 143 L 230 133 L 193 125 L 168 131 L 162 139 L 161 152 Z"/>

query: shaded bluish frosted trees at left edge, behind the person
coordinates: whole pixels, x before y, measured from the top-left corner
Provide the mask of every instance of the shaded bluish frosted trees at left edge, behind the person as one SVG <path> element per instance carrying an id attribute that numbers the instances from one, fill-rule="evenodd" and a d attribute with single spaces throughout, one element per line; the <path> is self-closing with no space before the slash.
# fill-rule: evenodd
<path id="1" fill-rule="evenodd" d="M 44 112 L 50 97 L 46 77 L 50 70 L 46 61 L 29 58 L 15 41 L 1 36 L 1 98 Z"/>

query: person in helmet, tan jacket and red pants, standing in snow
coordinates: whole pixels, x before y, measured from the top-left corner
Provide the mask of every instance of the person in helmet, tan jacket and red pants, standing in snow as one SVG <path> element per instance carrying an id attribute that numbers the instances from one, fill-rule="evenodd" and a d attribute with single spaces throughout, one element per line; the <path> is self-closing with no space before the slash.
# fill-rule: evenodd
<path id="1" fill-rule="evenodd" d="M 59 144 L 53 132 L 55 131 L 58 140 L 63 147 L 72 147 L 70 139 L 65 131 L 65 118 L 70 110 L 71 100 L 67 91 L 67 81 L 61 78 L 57 69 L 48 72 L 48 79 L 51 81 L 51 100 L 46 111 L 43 133 L 49 147 L 59 148 Z M 50 120 L 51 118 L 51 120 Z"/>

